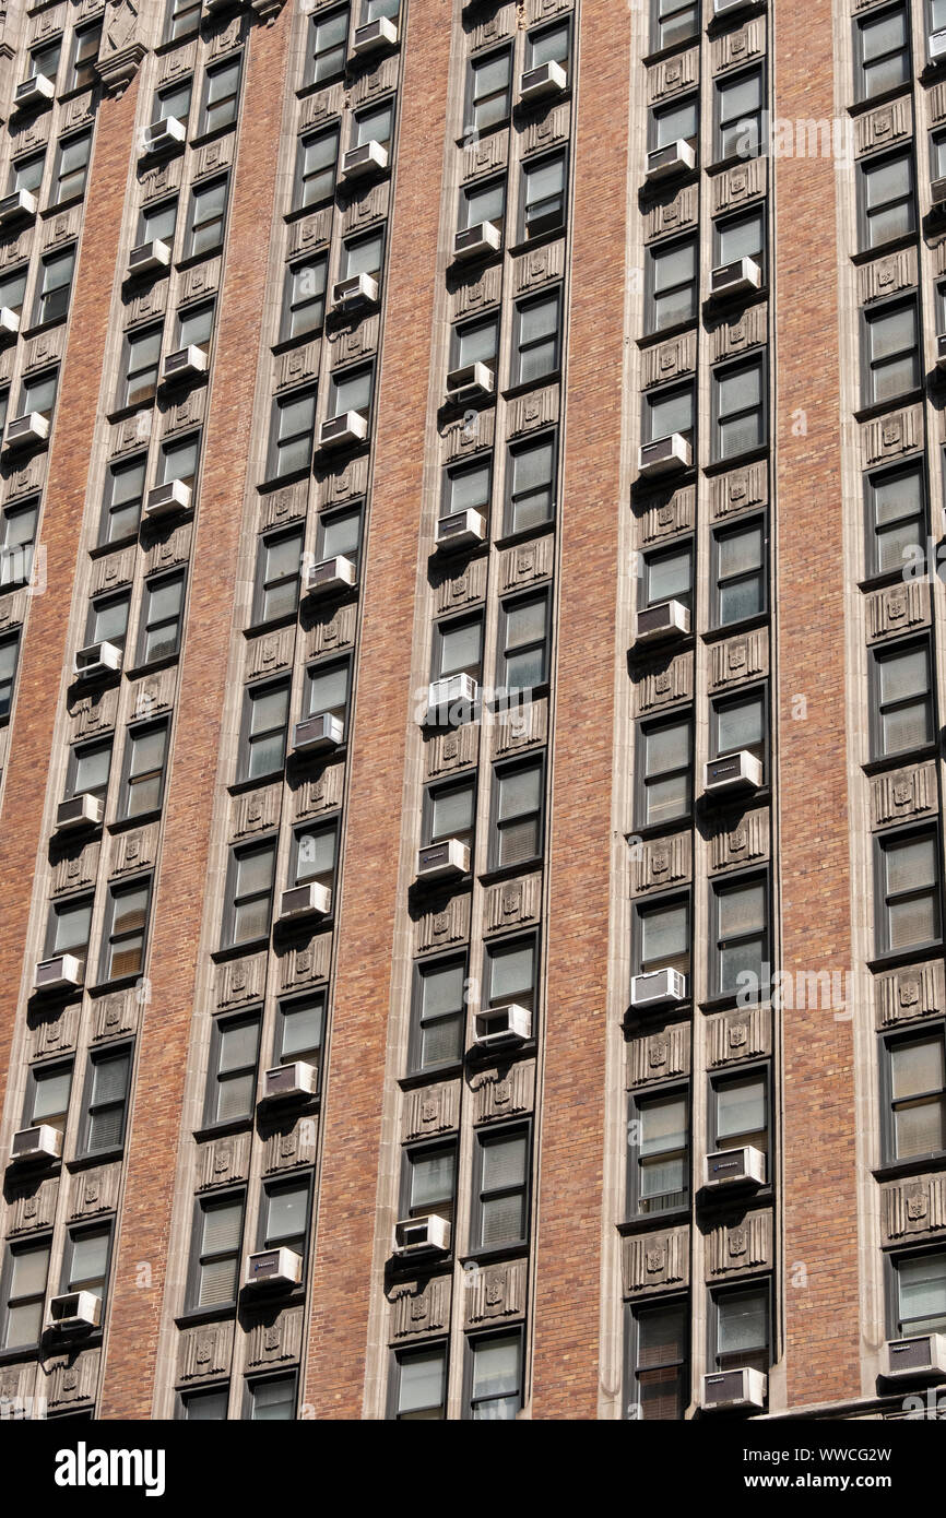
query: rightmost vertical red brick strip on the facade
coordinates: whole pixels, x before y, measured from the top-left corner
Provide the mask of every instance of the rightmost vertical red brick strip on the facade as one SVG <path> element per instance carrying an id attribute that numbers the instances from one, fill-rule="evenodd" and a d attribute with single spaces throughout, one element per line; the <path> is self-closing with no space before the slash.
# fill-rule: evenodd
<path id="1" fill-rule="evenodd" d="M 829 0 L 776 6 L 773 30 L 779 85 L 773 114 L 832 118 Z M 847 970 L 852 955 L 837 168 L 831 158 L 785 156 L 774 161 L 774 172 L 777 803 L 782 961 L 794 975 Z M 808 703 L 805 720 L 793 720 L 799 694 Z M 817 1008 L 787 1013 L 784 1037 L 785 1354 L 788 1401 L 797 1404 L 861 1389 L 853 1041 L 850 1023 Z M 799 1261 L 806 1286 L 791 1284 Z"/>

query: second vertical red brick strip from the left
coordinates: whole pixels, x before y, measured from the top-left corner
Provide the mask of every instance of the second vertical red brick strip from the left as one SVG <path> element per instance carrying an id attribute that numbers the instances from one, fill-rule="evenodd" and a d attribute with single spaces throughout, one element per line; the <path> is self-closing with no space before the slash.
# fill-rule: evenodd
<path id="1" fill-rule="evenodd" d="M 254 27 L 191 560 L 178 720 L 164 803 L 147 1006 L 102 1392 L 103 1418 L 147 1418 L 155 1356 L 232 627 L 234 565 L 251 436 L 269 226 L 290 23 Z M 126 128 L 125 150 L 132 141 Z M 150 1289 L 140 1289 L 140 1261 Z"/>

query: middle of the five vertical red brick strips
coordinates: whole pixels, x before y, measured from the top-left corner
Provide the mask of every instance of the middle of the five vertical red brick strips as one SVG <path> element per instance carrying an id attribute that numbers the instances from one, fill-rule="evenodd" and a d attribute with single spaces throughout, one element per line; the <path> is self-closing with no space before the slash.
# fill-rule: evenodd
<path id="1" fill-rule="evenodd" d="M 451 6 L 410 0 L 305 1401 L 360 1418 L 401 847 Z"/>

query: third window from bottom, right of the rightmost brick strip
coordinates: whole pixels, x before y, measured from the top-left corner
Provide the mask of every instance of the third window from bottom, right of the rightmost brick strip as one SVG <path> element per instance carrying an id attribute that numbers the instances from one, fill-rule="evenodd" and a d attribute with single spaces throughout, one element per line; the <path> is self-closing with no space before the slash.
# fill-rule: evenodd
<path id="1" fill-rule="evenodd" d="M 940 941 L 938 836 L 934 830 L 881 836 L 876 849 L 878 953 Z"/>

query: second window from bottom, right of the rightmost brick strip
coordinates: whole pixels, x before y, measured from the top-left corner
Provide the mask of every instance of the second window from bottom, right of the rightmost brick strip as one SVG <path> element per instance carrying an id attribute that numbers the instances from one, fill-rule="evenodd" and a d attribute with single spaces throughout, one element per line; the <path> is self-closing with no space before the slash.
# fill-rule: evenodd
<path id="1" fill-rule="evenodd" d="M 881 1049 L 884 1161 L 946 1149 L 946 1046 L 943 1026 L 888 1037 Z"/>

